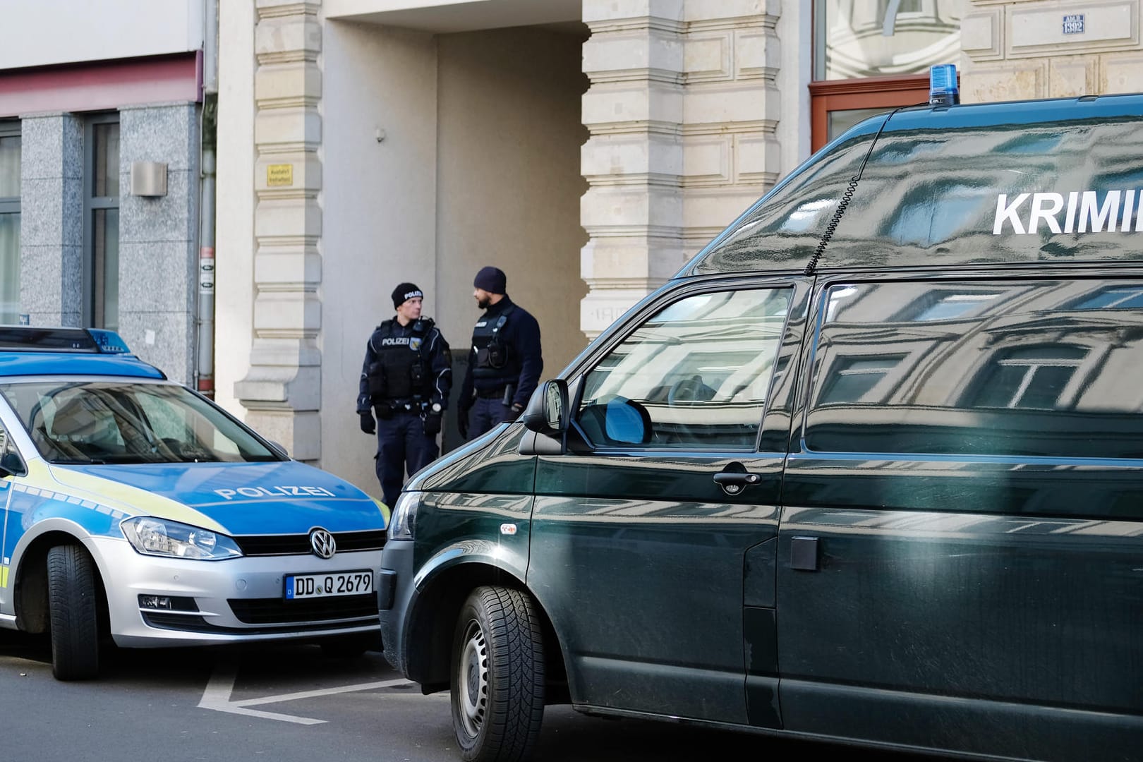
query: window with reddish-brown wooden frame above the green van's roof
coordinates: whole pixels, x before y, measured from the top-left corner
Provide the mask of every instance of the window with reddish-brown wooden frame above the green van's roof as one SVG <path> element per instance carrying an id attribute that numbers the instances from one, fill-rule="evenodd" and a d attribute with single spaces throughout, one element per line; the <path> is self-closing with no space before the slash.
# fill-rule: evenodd
<path id="1" fill-rule="evenodd" d="M 815 0 L 810 147 L 928 102 L 928 70 L 960 56 L 959 0 Z"/>

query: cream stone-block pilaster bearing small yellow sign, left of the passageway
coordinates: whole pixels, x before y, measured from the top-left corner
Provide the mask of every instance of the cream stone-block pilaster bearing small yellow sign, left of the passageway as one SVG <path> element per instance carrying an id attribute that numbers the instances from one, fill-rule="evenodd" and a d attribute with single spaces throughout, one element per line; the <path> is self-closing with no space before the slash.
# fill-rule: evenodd
<path id="1" fill-rule="evenodd" d="M 246 422 L 321 457 L 320 0 L 256 0 L 254 340 L 234 386 Z"/>

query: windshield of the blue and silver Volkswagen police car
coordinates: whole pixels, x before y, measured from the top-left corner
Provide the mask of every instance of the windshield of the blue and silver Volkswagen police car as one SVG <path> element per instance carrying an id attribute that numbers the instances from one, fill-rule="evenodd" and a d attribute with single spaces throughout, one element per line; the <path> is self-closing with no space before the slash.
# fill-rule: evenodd
<path id="1" fill-rule="evenodd" d="M 174 384 L 0 384 L 37 449 L 56 464 L 280 460 L 219 408 Z"/>

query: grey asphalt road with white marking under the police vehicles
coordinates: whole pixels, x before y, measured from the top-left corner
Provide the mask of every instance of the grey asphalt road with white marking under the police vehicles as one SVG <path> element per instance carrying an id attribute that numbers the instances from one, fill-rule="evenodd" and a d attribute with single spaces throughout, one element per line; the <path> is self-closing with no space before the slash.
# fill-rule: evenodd
<path id="1" fill-rule="evenodd" d="M 0 629 L 0 757 L 45 762 L 454 762 L 448 695 L 422 696 L 381 653 L 315 645 L 119 650 L 57 682 L 46 639 Z M 924 762 L 547 707 L 534 762 L 821 759 Z"/>

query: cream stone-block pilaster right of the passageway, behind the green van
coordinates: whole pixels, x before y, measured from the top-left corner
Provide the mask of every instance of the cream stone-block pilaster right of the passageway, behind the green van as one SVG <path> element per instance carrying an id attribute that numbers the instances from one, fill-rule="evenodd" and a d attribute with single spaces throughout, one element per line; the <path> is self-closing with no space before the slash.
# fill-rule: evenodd
<path id="1" fill-rule="evenodd" d="M 777 0 L 584 0 L 593 337 L 777 179 Z"/>

